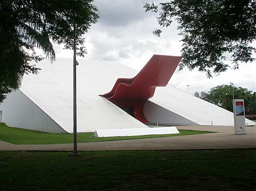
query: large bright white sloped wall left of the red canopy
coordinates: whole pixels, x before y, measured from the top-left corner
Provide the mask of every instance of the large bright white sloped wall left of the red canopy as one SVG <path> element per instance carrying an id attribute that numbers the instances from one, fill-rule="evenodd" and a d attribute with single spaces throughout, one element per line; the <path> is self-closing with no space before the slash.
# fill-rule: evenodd
<path id="1" fill-rule="evenodd" d="M 45 111 L 65 131 L 73 132 L 72 59 L 38 63 L 38 75 L 25 75 L 22 92 Z M 120 63 L 79 60 L 77 66 L 78 132 L 96 129 L 146 128 L 100 94 L 109 92 L 119 77 L 133 77 L 136 71 Z"/>

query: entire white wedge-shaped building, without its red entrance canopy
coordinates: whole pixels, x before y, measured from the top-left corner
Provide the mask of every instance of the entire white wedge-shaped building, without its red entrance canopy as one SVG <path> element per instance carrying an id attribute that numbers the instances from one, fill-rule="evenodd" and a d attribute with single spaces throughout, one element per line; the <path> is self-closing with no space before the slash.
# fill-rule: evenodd
<path id="1" fill-rule="evenodd" d="M 121 108 L 98 95 L 112 89 L 117 78 L 132 78 L 138 71 L 117 62 L 78 60 L 78 132 L 96 129 L 147 128 Z M 37 64 L 38 75 L 25 75 L 20 90 L 0 105 L 7 125 L 46 132 L 73 132 L 73 60 Z M 170 79 L 172 80 L 172 78 Z M 157 87 L 144 106 L 152 123 L 234 125 L 233 113 L 174 87 Z M 246 123 L 254 124 L 246 120 Z"/>

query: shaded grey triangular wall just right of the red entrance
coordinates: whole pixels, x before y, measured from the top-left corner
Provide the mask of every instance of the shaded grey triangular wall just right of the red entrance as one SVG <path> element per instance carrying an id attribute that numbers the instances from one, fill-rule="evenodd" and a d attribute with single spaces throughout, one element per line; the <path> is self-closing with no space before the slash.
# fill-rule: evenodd
<path id="1" fill-rule="evenodd" d="M 150 123 L 165 123 L 172 125 L 197 125 L 193 121 L 177 115 L 153 102 L 147 101 L 144 105 L 144 116 Z"/>

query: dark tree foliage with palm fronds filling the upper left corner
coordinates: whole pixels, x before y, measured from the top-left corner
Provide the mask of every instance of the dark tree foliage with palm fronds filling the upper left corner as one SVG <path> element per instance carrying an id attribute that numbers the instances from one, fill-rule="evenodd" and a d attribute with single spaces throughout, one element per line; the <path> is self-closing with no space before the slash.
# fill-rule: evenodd
<path id="1" fill-rule="evenodd" d="M 84 33 L 98 19 L 92 0 L 1 0 L 0 1 L 0 103 L 7 93 L 19 88 L 24 74 L 37 74 L 31 60 L 40 61 L 35 47 L 55 60 L 53 44 L 76 49 L 84 56 Z"/>

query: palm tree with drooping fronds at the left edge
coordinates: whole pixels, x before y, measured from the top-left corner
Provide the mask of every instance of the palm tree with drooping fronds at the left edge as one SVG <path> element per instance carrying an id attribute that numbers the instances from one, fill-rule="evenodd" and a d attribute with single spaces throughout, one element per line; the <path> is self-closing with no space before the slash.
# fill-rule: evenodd
<path id="1" fill-rule="evenodd" d="M 5 94 L 21 86 L 25 73 L 38 72 L 39 68 L 28 63 L 42 59 L 36 56 L 34 47 L 42 49 L 51 61 L 55 60 L 53 45 L 46 31 L 45 13 L 30 8 L 31 3 L 0 2 L 0 103 Z"/>

